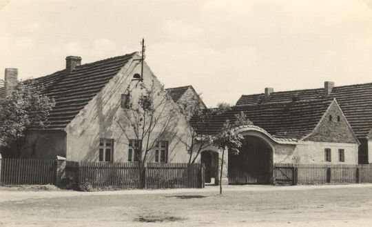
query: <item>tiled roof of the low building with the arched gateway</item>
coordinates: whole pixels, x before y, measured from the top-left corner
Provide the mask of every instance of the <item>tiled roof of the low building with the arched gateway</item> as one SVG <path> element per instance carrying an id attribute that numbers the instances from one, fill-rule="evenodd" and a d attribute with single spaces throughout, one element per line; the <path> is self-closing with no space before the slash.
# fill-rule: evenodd
<path id="1" fill-rule="evenodd" d="M 234 106 L 222 115 L 214 115 L 207 128 L 201 128 L 198 120 L 190 121 L 198 133 L 212 135 L 222 128 L 226 119 L 231 124 L 241 111 L 254 126 L 267 131 L 278 139 L 301 139 L 316 128 L 316 125 L 331 104 L 329 100 L 295 101 L 290 103 L 263 103 L 258 105 Z"/>

